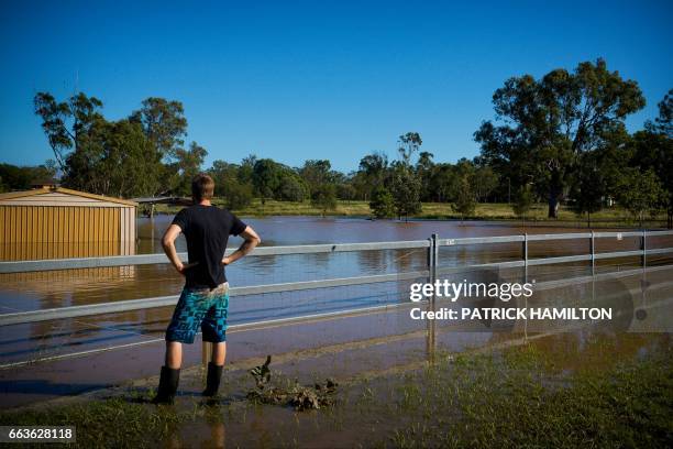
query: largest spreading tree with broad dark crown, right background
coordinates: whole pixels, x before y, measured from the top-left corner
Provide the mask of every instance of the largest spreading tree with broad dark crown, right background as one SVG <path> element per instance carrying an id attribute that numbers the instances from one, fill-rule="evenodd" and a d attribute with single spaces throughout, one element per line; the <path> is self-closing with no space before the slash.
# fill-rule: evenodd
<path id="1" fill-rule="evenodd" d="M 512 77 L 495 91 L 493 103 L 504 123 L 486 121 L 475 132 L 482 157 L 519 185 L 532 176 L 548 193 L 549 217 L 556 218 L 577 155 L 624 129 L 644 98 L 636 81 L 609 72 L 599 58 L 578 64 L 572 74 L 554 69 L 539 80 Z"/>

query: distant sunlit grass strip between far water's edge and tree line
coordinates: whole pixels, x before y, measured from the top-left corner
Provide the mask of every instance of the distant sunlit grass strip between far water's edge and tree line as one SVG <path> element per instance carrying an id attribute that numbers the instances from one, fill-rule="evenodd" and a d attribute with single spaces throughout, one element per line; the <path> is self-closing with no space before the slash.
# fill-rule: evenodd
<path id="1" fill-rule="evenodd" d="M 221 206 L 222 201 L 213 200 L 214 204 Z M 156 212 L 158 213 L 176 213 L 180 206 L 157 205 Z M 243 208 L 234 210 L 242 217 L 266 217 L 266 216 L 321 216 L 322 211 L 313 206 L 310 201 L 276 201 L 266 200 L 264 205 L 257 198 L 253 202 Z M 573 223 L 575 226 L 586 226 L 586 218 L 577 217 L 573 211 L 565 207 L 561 207 L 559 219 L 547 218 L 547 205 L 534 205 L 526 220 L 529 222 L 562 222 Z M 338 201 L 336 209 L 327 212 L 328 216 L 334 217 L 369 217 L 369 204 L 367 201 Z M 448 202 L 423 202 L 422 211 L 412 218 L 420 219 L 454 219 L 459 220 L 462 217 L 451 209 L 451 204 Z M 471 220 L 517 220 L 521 221 L 514 211 L 510 205 L 507 204 L 478 204 L 474 215 L 465 217 Z M 637 226 L 638 222 L 626 210 L 620 208 L 604 209 L 592 216 L 592 221 L 600 226 Z M 657 220 L 648 220 L 646 223 L 651 227 L 661 226 L 665 221 L 665 216 L 657 217 Z"/>

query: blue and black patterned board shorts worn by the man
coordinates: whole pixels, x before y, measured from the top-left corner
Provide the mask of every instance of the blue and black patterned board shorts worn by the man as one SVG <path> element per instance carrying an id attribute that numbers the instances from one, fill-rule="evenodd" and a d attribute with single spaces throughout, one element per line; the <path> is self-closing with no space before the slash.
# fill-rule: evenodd
<path id="1" fill-rule="evenodd" d="M 216 288 L 184 288 L 173 318 L 166 329 L 166 341 L 194 343 L 201 327 L 203 341 L 227 341 L 227 310 L 229 308 L 229 283 Z"/>

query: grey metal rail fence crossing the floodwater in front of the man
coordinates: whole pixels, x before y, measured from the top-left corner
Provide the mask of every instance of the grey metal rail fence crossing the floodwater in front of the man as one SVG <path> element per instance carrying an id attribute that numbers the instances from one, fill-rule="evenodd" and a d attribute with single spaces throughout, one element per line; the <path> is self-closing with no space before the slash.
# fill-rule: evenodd
<path id="1" fill-rule="evenodd" d="M 591 266 L 591 274 L 596 274 L 597 262 L 602 260 L 622 259 L 622 258 L 640 258 L 639 265 L 641 269 L 648 266 L 648 258 L 652 255 L 673 254 L 673 245 L 664 248 L 648 248 L 648 240 L 673 236 L 673 231 L 628 231 L 628 232 L 580 232 L 580 233 L 554 233 L 554 234 L 519 234 L 519 236 L 503 236 L 503 237 L 474 237 L 460 239 L 440 239 L 433 234 L 427 240 L 413 241 L 397 241 L 397 242 L 372 242 L 372 243 L 336 243 L 336 244 L 312 244 L 312 245 L 293 245 L 293 247 L 262 247 L 255 249 L 250 256 L 265 255 L 288 255 L 288 254 L 329 254 L 340 252 L 358 252 L 358 251 L 383 251 L 383 250 L 423 250 L 427 251 L 427 266 L 420 271 L 397 272 L 386 274 L 374 274 L 366 276 L 336 277 L 315 281 L 299 281 L 288 283 L 275 283 L 265 285 L 251 285 L 232 287 L 230 294 L 232 296 L 255 295 L 267 293 L 297 292 L 316 288 L 343 287 L 351 285 L 366 285 L 400 281 L 412 281 L 418 278 L 434 282 L 439 275 L 457 273 L 465 270 L 489 270 L 489 269 L 522 269 L 522 276 L 528 277 L 528 271 L 531 266 L 564 264 L 573 262 L 587 262 Z M 616 239 L 636 238 L 639 240 L 638 250 L 629 251 L 613 251 L 597 252 L 596 242 L 599 239 Z M 588 252 L 576 255 L 534 258 L 529 256 L 529 245 L 532 242 L 551 242 L 560 240 L 583 240 L 587 242 Z M 441 266 L 440 249 L 456 248 L 466 245 L 482 244 L 498 244 L 498 243 L 518 243 L 521 245 L 520 259 L 515 261 L 467 264 L 461 266 Z M 227 254 L 231 254 L 233 250 L 228 250 Z M 178 254 L 181 259 L 187 256 L 186 253 Z M 126 266 L 126 265 L 148 265 L 148 264 L 166 264 L 169 263 L 164 254 L 141 254 L 126 256 L 109 256 L 109 258 L 82 258 L 82 259 L 58 259 L 58 260 L 41 260 L 41 261 L 18 261 L 18 262 L 0 262 L 0 274 L 4 273 L 24 273 L 24 272 L 43 272 L 53 270 L 76 270 L 90 267 L 110 267 L 110 266 Z M 178 296 L 159 296 L 143 299 L 128 299 L 103 304 L 91 304 L 82 306 L 58 307 L 30 311 L 16 311 L 0 315 L 0 326 L 11 326 L 37 321 L 47 321 L 65 318 L 77 318 L 93 315 L 114 314 L 131 310 L 142 310 L 158 307 L 173 306 L 177 303 Z M 346 310 L 320 313 L 312 315 L 304 315 L 291 318 L 279 318 L 275 320 L 247 322 L 242 326 L 258 326 L 266 322 L 278 322 L 289 320 L 302 320 L 307 318 L 329 317 L 346 314 L 355 314 L 368 311 L 379 308 L 390 307 L 391 305 L 382 305 L 375 307 L 354 307 Z"/>

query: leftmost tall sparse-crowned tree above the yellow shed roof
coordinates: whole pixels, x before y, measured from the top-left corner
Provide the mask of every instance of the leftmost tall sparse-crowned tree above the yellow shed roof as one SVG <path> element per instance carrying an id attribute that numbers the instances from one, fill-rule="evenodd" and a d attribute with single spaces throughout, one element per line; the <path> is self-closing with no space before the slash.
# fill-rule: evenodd
<path id="1" fill-rule="evenodd" d="M 102 102 L 96 97 L 79 92 L 66 101 L 57 102 L 48 92 L 37 92 L 33 99 L 35 113 L 42 118 L 42 129 L 47 136 L 54 157 L 60 169 L 69 151 L 77 152 L 91 127 L 102 119 Z"/>

